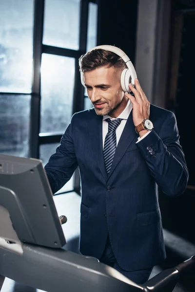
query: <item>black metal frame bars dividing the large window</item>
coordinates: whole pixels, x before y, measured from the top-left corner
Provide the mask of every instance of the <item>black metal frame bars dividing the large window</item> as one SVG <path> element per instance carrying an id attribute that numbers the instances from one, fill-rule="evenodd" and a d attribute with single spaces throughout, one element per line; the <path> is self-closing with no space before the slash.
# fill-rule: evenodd
<path id="1" fill-rule="evenodd" d="M 34 0 L 34 31 L 33 31 L 33 78 L 32 92 L 0 92 L 0 94 L 12 95 L 31 95 L 30 105 L 30 137 L 29 137 L 29 157 L 39 159 L 39 146 L 44 144 L 59 143 L 63 133 L 39 133 L 40 131 L 40 100 L 41 100 L 41 58 L 42 54 L 59 55 L 75 58 L 75 82 L 73 93 L 72 114 L 84 109 L 84 88 L 80 82 L 80 73 L 78 68 L 78 58 L 86 53 L 87 31 L 88 31 L 88 11 L 89 3 L 98 4 L 98 0 L 80 0 L 80 20 L 79 20 L 79 48 L 71 50 L 49 46 L 42 43 L 43 25 L 44 25 L 44 5 L 45 0 Z M 65 129 L 64 129 L 65 130 Z M 75 191 L 80 194 L 80 178 L 78 168 L 74 174 L 73 190 L 65 191 L 68 193 Z"/>

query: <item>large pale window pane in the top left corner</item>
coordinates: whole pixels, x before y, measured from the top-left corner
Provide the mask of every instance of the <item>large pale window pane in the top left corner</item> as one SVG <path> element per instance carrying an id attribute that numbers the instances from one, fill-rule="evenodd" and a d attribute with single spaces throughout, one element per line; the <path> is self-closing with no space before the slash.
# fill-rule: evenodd
<path id="1" fill-rule="evenodd" d="M 30 93 L 33 0 L 0 0 L 0 91 Z"/>

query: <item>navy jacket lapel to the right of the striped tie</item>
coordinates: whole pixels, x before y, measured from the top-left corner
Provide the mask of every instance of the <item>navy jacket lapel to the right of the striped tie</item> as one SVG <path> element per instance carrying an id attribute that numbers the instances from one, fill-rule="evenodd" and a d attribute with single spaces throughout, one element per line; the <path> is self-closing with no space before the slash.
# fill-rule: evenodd
<path id="1" fill-rule="evenodd" d="M 129 114 L 129 117 L 127 119 L 127 122 L 125 124 L 125 128 L 123 129 L 122 135 L 118 141 L 117 149 L 116 149 L 113 163 L 112 163 L 109 175 L 108 175 L 108 179 L 112 175 L 113 171 L 117 167 L 117 164 L 119 163 L 119 161 L 121 160 L 121 158 L 125 154 L 125 151 L 131 145 L 131 143 L 133 142 L 133 140 L 135 139 L 136 136 L 138 137 L 138 134 L 135 131 L 135 126 L 134 126 L 134 122 L 133 122 L 133 115 L 132 115 L 132 111 L 131 111 Z"/>

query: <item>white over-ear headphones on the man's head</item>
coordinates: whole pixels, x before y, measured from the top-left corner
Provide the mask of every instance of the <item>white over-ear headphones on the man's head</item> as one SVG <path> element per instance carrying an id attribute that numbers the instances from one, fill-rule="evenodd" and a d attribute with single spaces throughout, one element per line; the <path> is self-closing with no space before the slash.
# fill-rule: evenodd
<path id="1" fill-rule="evenodd" d="M 117 48 L 115 46 L 109 46 L 109 45 L 97 46 L 97 47 L 92 48 L 88 52 L 91 52 L 95 49 L 102 49 L 102 50 L 113 52 L 123 59 L 123 61 L 127 65 L 127 69 L 124 69 L 121 73 L 120 84 L 121 84 L 123 91 L 130 92 L 131 90 L 129 89 L 129 84 L 131 83 L 134 86 L 135 85 L 135 78 L 137 78 L 136 70 L 134 68 L 134 65 L 130 61 L 130 58 L 122 50 L 120 50 L 119 48 Z M 82 85 L 85 87 L 85 80 L 84 80 L 84 73 L 83 72 L 80 72 L 80 80 L 81 80 Z"/>

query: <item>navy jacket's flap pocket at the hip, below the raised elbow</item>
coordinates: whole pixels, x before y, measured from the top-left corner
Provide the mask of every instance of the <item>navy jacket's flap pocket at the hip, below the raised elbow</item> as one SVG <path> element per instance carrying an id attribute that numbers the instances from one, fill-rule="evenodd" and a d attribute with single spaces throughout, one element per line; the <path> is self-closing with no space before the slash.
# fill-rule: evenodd
<path id="1" fill-rule="evenodd" d="M 138 225 L 144 226 L 156 223 L 161 220 L 160 208 L 152 212 L 144 212 L 137 214 Z"/>

